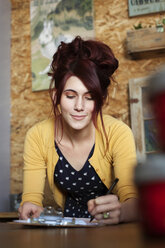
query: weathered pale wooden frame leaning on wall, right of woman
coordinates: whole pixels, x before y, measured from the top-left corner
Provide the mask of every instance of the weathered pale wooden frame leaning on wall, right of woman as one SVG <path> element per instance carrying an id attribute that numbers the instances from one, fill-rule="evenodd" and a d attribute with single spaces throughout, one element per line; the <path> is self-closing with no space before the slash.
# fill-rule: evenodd
<path id="1" fill-rule="evenodd" d="M 148 100 L 147 77 L 129 80 L 131 128 L 138 160 L 158 152 L 157 128 Z"/>

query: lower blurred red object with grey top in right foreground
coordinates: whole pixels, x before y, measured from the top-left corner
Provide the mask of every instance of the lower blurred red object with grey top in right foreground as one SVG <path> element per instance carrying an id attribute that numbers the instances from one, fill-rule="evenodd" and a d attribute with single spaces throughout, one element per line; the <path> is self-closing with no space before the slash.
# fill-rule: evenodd
<path id="1" fill-rule="evenodd" d="M 165 154 L 150 155 L 135 169 L 144 231 L 165 236 Z"/>

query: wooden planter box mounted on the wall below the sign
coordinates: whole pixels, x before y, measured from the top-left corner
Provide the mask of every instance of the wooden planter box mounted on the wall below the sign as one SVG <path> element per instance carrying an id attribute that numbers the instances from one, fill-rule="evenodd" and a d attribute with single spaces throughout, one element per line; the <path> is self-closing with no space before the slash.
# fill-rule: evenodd
<path id="1" fill-rule="evenodd" d="M 165 52 L 165 32 L 156 28 L 142 28 L 127 32 L 127 53 L 133 57 L 144 57 L 150 53 L 160 55 Z"/>

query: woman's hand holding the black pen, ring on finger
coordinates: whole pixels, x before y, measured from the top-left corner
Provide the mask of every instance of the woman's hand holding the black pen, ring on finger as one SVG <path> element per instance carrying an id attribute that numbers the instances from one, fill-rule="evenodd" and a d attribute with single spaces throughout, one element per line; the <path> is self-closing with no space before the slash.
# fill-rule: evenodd
<path id="1" fill-rule="evenodd" d="M 120 222 L 121 203 L 116 195 L 100 196 L 88 201 L 88 211 L 100 223 L 118 224 Z"/>

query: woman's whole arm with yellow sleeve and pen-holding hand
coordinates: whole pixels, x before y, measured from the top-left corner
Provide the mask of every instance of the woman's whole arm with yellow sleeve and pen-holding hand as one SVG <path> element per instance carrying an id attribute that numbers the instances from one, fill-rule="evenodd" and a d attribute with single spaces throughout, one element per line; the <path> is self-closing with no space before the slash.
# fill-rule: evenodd
<path id="1" fill-rule="evenodd" d="M 114 176 L 119 178 L 115 195 L 106 195 L 88 202 L 91 215 L 105 224 L 117 224 L 138 219 L 137 192 L 133 182 L 136 152 L 132 132 L 126 125 L 117 126 L 112 134 L 114 142 L 110 149 L 113 154 Z M 109 217 L 103 218 L 108 212 Z"/>

